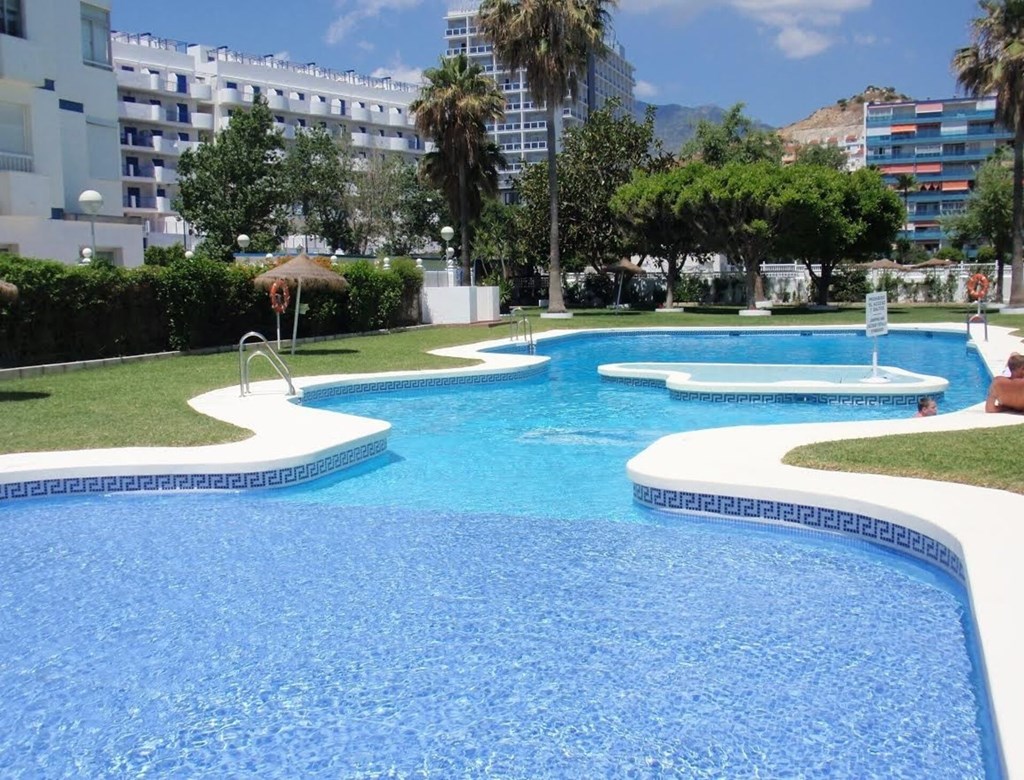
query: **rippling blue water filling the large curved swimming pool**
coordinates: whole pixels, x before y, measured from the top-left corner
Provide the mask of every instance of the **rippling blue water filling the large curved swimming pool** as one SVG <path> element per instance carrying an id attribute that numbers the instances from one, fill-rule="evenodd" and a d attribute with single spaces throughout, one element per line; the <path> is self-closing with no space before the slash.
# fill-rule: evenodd
<path id="1" fill-rule="evenodd" d="M 624 476 L 688 427 L 908 410 L 596 376 L 867 344 L 542 344 L 546 377 L 333 400 L 391 421 L 390 451 L 310 487 L 0 507 L 0 776 L 994 776 L 957 586 L 857 543 L 642 511 Z M 983 397 L 963 340 L 883 349 L 950 380 L 942 411 Z"/>

